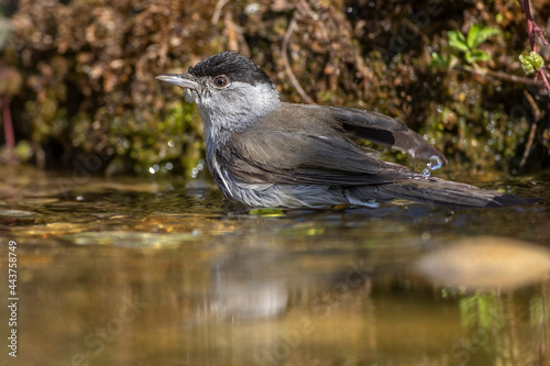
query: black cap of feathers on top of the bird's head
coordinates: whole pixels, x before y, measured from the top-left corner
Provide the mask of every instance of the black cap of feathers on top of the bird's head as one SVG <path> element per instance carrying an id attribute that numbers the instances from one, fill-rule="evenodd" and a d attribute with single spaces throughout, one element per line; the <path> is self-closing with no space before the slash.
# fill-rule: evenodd
<path id="1" fill-rule="evenodd" d="M 267 74 L 251 59 L 231 51 L 208 57 L 196 66 L 189 67 L 188 73 L 196 77 L 227 75 L 231 80 L 235 81 L 244 81 L 251 85 L 261 82 L 273 85 Z"/>

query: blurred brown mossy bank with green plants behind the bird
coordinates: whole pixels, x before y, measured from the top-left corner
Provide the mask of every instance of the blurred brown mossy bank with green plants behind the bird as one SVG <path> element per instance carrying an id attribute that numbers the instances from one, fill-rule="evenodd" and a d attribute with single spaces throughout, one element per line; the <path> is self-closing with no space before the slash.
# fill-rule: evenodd
<path id="1" fill-rule="evenodd" d="M 550 1 L 532 8 L 548 31 Z M 2 0 L 0 13 L 0 95 L 18 164 L 190 176 L 200 118 L 154 77 L 233 49 L 286 101 L 404 120 L 451 169 L 550 165 L 549 98 L 521 69 L 530 48 L 516 0 Z M 541 56 L 550 60 L 548 46 Z"/>

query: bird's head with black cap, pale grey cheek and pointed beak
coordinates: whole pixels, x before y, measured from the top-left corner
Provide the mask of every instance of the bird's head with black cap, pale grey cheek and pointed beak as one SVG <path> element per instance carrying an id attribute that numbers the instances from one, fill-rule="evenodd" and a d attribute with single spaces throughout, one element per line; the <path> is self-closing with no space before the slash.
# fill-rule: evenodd
<path id="1" fill-rule="evenodd" d="M 197 104 L 207 129 L 239 131 L 280 104 L 267 74 L 233 52 L 213 55 L 185 74 L 164 74 L 156 79 L 183 88 L 185 100 Z"/>

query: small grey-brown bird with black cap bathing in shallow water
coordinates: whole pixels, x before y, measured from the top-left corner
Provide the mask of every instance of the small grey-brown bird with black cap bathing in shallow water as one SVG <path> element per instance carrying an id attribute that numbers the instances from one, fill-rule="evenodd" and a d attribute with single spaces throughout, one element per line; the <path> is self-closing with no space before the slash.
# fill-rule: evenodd
<path id="1" fill-rule="evenodd" d="M 354 138 L 447 164 L 439 151 L 397 119 L 352 108 L 282 102 L 267 74 L 234 52 L 156 79 L 180 87 L 185 100 L 197 104 L 216 184 L 229 200 L 249 207 L 376 207 L 406 199 L 482 208 L 528 201 L 377 158 Z"/>

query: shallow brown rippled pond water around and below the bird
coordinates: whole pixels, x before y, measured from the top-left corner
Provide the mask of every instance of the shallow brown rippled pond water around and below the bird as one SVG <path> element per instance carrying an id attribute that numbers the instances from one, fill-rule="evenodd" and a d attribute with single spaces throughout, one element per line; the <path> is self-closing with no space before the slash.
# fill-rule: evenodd
<path id="1" fill-rule="evenodd" d="M 246 212 L 208 180 L 7 169 L 0 363 L 549 364 L 549 181 L 484 184 L 532 207 Z"/>

